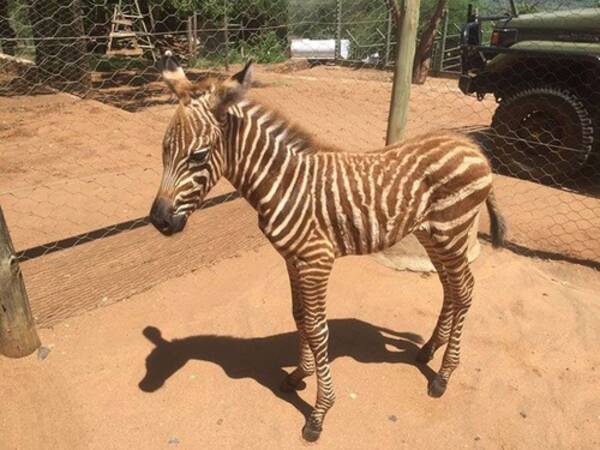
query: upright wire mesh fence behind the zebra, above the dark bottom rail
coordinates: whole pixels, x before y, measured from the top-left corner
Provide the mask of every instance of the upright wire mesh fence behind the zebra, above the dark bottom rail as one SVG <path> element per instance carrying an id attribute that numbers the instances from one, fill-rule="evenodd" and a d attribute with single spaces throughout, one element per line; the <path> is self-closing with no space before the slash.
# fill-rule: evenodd
<path id="1" fill-rule="evenodd" d="M 476 3 L 422 2 L 407 135 L 472 135 L 510 241 L 600 264 L 598 2 Z M 384 0 L 0 1 L 0 204 L 20 256 L 146 223 L 176 103 L 162 51 L 193 81 L 253 58 L 253 98 L 367 151 L 384 144 L 394 27 Z"/>

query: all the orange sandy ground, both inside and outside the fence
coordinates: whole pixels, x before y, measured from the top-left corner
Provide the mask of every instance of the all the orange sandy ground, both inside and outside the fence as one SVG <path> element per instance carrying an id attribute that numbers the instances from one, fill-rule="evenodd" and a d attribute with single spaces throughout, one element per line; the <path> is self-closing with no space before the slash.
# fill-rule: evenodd
<path id="1" fill-rule="evenodd" d="M 320 139 L 382 144 L 390 84 L 380 73 L 258 75 L 252 95 Z M 0 97 L 0 204 L 18 250 L 147 213 L 173 111 L 158 84 L 136 92 L 149 91 L 134 112 L 65 94 Z M 492 110 L 455 81 L 430 80 L 413 91 L 409 132 L 484 125 Z M 597 199 L 507 177 L 496 185 L 512 241 L 600 260 Z M 0 449 L 307 446 L 315 382 L 299 397 L 277 390 L 296 358 L 287 277 L 243 201 L 196 213 L 170 239 L 143 227 L 21 266 L 51 352 L 0 359 Z M 433 400 L 427 379 L 441 355 L 430 368 L 412 361 L 440 307 L 435 276 L 370 257 L 338 262 L 338 401 L 319 446 L 600 445 L 598 272 L 486 245 L 474 271 L 463 364 Z"/>

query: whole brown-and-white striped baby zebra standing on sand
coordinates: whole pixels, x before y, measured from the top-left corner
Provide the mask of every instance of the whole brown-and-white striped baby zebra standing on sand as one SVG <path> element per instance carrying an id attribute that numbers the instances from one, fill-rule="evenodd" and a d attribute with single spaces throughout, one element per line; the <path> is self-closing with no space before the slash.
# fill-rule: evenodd
<path id="1" fill-rule="evenodd" d="M 300 339 L 298 367 L 282 389 L 301 389 L 303 378 L 317 374 L 304 438 L 318 439 L 335 399 L 325 317 L 334 260 L 378 252 L 410 233 L 427 250 L 444 289 L 433 335 L 417 356 L 427 362 L 448 344 L 429 385 L 429 395 L 441 396 L 459 361 L 473 291 L 467 236 L 484 202 L 493 244 L 503 243 L 490 166 L 477 145 L 441 133 L 376 152 L 336 151 L 244 99 L 251 63 L 227 80 L 199 84 L 187 79 L 170 52 L 162 65 L 179 106 L 165 134 L 164 172 L 150 219 L 165 235 L 181 231 L 221 176 L 254 207 L 260 229 L 285 259 Z"/>

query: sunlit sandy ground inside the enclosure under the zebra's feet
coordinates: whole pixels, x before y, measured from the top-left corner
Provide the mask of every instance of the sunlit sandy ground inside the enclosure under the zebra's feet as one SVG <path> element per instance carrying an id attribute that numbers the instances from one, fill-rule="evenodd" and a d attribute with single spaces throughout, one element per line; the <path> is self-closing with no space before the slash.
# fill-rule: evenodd
<path id="1" fill-rule="evenodd" d="M 338 401 L 314 447 L 600 445 L 597 272 L 487 245 L 474 272 L 462 365 L 431 399 L 441 355 L 413 358 L 440 307 L 435 276 L 337 262 Z M 293 330 L 284 266 L 266 245 L 64 320 L 41 330 L 46 359 L 0 359 L 0 448 L 307 447 L 315 381 L 299 396 L 277 390 L 296 360 Z"/>

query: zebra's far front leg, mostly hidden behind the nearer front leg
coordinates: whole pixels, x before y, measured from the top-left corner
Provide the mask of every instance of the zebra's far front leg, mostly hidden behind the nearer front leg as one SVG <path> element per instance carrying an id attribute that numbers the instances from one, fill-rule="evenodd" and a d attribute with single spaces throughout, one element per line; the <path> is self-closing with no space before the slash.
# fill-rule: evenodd
<path id="1" fill-rule="evenodd" d="M 304 334 L 304 308 L 302 306 L 302 294 L 298 284 L 298 271 L 291 261 L 288 260 L 286 263 L 292 291 L 292 314 L 294 316 L 294 320 L 296 321 L 298 337 L 300 340 L 300 361 L 298 363 L 298 367 L 296 367 L 296 369 L 292 373 L 288 374 L 283 380 L 283 383 L 281 384 L 281 390 L 284 392 L 292 392 L 296 390 L 302 390 L 306 387 L 306 384 L 302 381 L 302 379 L 315 373 L 315 359 Z"/>

